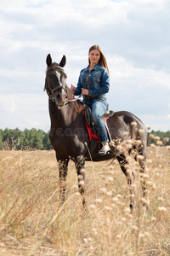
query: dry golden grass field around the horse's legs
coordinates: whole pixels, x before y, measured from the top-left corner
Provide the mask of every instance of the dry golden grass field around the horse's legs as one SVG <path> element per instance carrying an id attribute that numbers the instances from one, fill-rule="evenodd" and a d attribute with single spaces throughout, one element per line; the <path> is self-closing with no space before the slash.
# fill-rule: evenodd
<path id="1" fill-rule="evenodd" d="M 72 162 L 59 207 L 54 151 L 0 151 L 0 255 L 170 255 L 170 150 L 147 151 L 148 195 L 137 174 L 133 214 L 116 161 L 86 163 L 84 210 Z"/>

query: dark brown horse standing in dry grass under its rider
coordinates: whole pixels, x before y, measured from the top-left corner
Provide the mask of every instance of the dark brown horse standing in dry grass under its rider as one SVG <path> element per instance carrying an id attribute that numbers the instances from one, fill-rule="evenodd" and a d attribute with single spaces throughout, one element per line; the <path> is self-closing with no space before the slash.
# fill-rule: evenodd
<path id="1" fill-rule="evenodd" d="M 65 180 L 69 160 L 75 162 L 79 191 L 84 195 L 84 167 L 90 143 L 82 113 L 84 106 L 82 102 L 76 101 L 71 95 L 71 90 L 65 84 L 66 74 L 63 70 L 65 62 L 65 55 L 59 64 L 52 62 L 51 55 L 47 56 L 46 63 L 48 67 L 44 87 L 49 97 L 48 107 L 51 119 L 49 139 L 55 150 L 59 164 L 61 201 L 65 200 Z M 119 111 L 107 119 L 107 125 L 112 139 L 111 152 L 110 154 L 99 155 L 99 147 L 96 147 L 91 155 L 92 160 L 102 161 L 117 159 L 122 168 L 122 172 L 127 177 L 127 183 L 130 186 L 133 183 L 133 175 L 127 169 L 130 154 L 133 154 L 133 158 L 139 161 L 140 171 L 144 172 L 147 138 L 144 124 L 139 118 L 133 115 L 133 113 Z M 131 147 L 127 147 L 126 150 L 123 149 L 126 148 L 125 146 L 129 141 Z M 137 143 L 133 143 L 135 141 Z M 134 154 L 134 152 L 137 151 L 138 153 Z M 144 182 L 142 183 L 142 188 L 145 193 Z M 82 202 L 83 204 L 85 203 L 84 196 L 82 196 Z M 130 207 L 133 207 L 133 201 L 131 201 Z"/>

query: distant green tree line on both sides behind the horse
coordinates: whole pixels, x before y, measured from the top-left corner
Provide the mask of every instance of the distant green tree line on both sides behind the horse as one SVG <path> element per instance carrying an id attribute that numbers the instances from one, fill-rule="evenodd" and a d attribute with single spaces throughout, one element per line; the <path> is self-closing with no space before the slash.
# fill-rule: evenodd
<path id="1" fill-rule="evenodd" d="M 150 136 L 151 135 L 151 136 Z M 170 145 L 170 131 L 150 131 L 148 132 L 148 145 L 156 143 L 157 138 L 160 138 L 162 145 Z M 167 138 L 165 140 L 165 138 Z M 161 144 L 160 144 L 161 145 Z M 50 150 L 52 149 L 49 141 L 49 131 L 45 132 L 32 128 L 25 129 L 0 129 L 0 149 L 16 149 L 16 150 Z"/>

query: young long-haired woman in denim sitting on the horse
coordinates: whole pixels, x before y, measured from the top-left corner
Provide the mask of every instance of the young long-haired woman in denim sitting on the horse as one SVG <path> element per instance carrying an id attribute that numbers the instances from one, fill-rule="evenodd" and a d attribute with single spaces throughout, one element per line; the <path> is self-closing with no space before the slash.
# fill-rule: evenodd
<path id="1" fill-rule="evenodd" d="M 111 148 L 101 116 L 108 106 L 105 95 L 110 88 L 110 79 L 105 55 L 99 45 L 93 45 L 89 49 L 88 62 L 88 67 L 80 73 L 77 88 L 71 85 L 71 93 L 75 96 L 82 94 L 83 103 L 92 109 L 92 118 L 103 144 L 99 154 L 106 154 Z"/>

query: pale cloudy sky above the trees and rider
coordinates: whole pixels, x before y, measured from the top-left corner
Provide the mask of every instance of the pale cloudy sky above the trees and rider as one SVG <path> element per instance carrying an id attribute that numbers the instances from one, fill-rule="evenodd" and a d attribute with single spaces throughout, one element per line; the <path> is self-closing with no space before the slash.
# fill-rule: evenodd
<path id="1" fill-rule="evenodd" d="M 170 130 L 169 0 L 1 0 L 0 129 L 49 130 L 46 56 L 66 55 L 77 85 L 99 44 L 111 73 L 107 96 L 153 130 Z"/>

